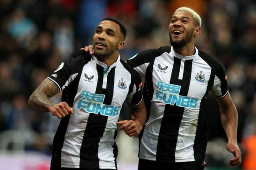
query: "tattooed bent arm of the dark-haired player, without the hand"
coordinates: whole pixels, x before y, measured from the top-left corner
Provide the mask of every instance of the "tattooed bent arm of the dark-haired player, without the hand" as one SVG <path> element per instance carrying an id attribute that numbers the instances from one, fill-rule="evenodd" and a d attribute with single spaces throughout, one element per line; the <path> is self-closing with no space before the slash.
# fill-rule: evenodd
<path id="1" fill-rule="evenodd" d="M 49 79 L 45 79 L 30 96 L 29 104 L 39 111 L 49 111 L 48 107 L 55 104 L 49 98 L 58 92 L 59 89 L 56 84 Z"/>

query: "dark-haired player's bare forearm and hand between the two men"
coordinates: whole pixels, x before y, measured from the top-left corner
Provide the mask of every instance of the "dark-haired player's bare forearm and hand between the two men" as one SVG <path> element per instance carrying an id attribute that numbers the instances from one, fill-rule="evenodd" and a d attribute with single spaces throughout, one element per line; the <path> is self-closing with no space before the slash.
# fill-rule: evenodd
<path id="1" fill-rule="evenodd" d="M 119 129 L 124 130 L 127 135 L 132 137 L 140 134 L 140 131 L 145 125 L 146 107 L 144 101 L 142 100 L 137 106 L 130 106 L 130 110 L 132 111 L 132 116 L 134 118 L 131 120 L 118 121 L 116 124 L 121 125 Z"/>

